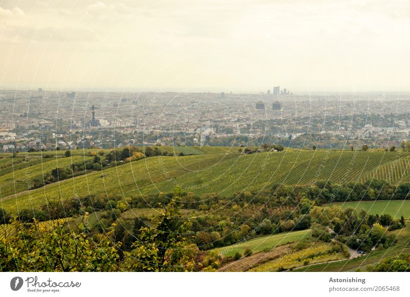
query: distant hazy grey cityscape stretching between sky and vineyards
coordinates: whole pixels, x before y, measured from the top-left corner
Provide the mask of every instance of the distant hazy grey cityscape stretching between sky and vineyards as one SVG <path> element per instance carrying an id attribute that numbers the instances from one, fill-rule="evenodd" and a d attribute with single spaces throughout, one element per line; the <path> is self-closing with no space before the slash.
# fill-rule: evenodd
<path id="1" fill-rule="evenodd" d="M 4 90 L 0 147 L 28 151 L 279 143 L 383 148 L 408 140 L 409 97 L 310 96 L 280 86 L 259 94 Z"/>

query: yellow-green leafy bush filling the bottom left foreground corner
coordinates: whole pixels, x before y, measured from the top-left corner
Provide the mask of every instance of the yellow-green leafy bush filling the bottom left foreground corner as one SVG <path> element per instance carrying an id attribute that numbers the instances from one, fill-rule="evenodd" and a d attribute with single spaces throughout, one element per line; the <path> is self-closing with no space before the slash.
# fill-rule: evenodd
<path id="1" fill-rule="evenodd" d="M 90 238 L 84 225 L 67 232 L 67 220 L 53 225 L 13 221 L 16 233 L 0 241 L 2 271 L 117 271 L 118 247 L 109 239 L 111 233 Z M 72 230 L 73 226 L 70 226 Z M 29 252 L 28 252 L 29 251 Z"/>

